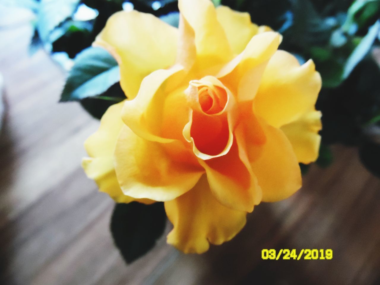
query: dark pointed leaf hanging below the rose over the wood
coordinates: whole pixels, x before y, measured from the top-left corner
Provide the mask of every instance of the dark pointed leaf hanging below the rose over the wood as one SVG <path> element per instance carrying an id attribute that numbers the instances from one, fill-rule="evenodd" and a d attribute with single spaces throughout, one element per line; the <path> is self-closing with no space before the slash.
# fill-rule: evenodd
<path id="1" fill-rule="evenodd" d="M 116 204 L 111 232 L 127 263 L 146 254 L 163 234 L 166 214 L 162 202 L 145 205 L 137 202 Z"/>

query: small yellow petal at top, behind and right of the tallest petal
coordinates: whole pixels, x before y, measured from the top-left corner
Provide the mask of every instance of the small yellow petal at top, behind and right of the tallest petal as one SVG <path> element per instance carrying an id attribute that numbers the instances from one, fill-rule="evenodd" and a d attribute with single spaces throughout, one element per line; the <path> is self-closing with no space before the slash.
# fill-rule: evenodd
<path id="1" fill-rule="evenodd" d="M 218 6 L 216 12 L 232 51 L 234 54 L 241 53 L 251 38 L 258 33 L 258 26 L 251 22 L 248 13 L 233 11 L 227 6 Z"/>

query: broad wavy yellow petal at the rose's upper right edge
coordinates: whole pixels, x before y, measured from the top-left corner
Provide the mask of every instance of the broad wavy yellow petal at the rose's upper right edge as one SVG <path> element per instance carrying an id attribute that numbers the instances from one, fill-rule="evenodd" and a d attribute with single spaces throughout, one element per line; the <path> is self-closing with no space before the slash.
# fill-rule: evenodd
<path id="1" fill-rule="evenodd" d="M 279 128 L 310 110 L 320 89 L 321 77 L 312 60 L 300 66 L 293 55 L 277 51 L 264 71 L 255 97 L 255 113 Z"/>

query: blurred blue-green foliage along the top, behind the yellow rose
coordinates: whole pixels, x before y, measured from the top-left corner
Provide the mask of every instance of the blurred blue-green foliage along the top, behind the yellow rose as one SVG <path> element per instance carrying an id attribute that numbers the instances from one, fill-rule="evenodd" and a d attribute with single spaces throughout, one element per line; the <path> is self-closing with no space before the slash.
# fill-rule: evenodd
<path id="1" fill-rule="evenodd" d="M 74 60 L 61 101 L 80 101 L 95 117 L 122 100 L 115 66 L 104 70 L 87 49 L 109 16 L 131 8 L 178 25 L 176 0 L 5 0 L 32 9 L 37 15 L 31 51 L 42 45 L 51 52 L 66 52 Z M 281 49 L 293 53 L 300 63 L 312 58 L 323 79 L 317 109 L 323 113 L 322 144 L 317 163 L 332 161 L 329 145 L 343 143 L 361 147 L 378 142 L 368 135 L 380 121 L 380 71 L 371 56 L 379 45 L 380 0 L 212 0 L 248 12 L 253 22 L 283 34 Z M 93 10 L 90 19 L 78 19 L 79 10 Z M 79 17 L 80 18 L 80 17 Z M 82 52 L 83 51 L 83 52 Z M 101 55 L 105 60 L 106 54 Z M 109 59 L 112 60 L 112 59 Z M 110 62 L 109 62 L 110 63 Z M 112 64 L 115 64 L 113 62 Z M 81 73 L 92 70 L 93 73 Z M 90 76 L 95 75 L 93 79 Z M 77 77 L 83 77 L 78 79 Z M 97 82 L 98 81 L 98 82 Z M 101 86 L 101 88 L 100 88 Z M 96 92 L 98 90 L 98 92 Z M 372 126 L 372 127 L 371 127 Z M 377 135 L 378 138 L 379 135 Z M 374 155 L 375 157 L 375 155 Z M 377 161 L 380 161 L 378 159 Z M 377 164 L 378 165 L 378 164 Z M 304 168 L 302 166 L 302 168 Z M 379 167 L 380 168 L 380 167 Z M 306 169 L 306 168 L 305 168 Z"/>

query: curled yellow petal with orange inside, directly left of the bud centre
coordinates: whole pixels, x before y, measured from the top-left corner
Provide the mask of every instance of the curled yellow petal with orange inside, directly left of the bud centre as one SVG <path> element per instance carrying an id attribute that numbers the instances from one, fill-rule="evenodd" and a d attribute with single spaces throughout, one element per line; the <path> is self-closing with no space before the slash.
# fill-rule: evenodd
<path id="1" fill-rule="evenodd" d="M 182 67 L 176 65 L 168 70 L 156 70 L 144 78 L 136 98 L 125 101 L 122 110 L 124 123 L 138 136 L 150 141 L 168 143 L 180 137 L 184 125 L 177 130 L 177 135 L 173 134 L 173 125 L 169 126 L 170 133 L 164 134 L 163 117 L 170 114 L 177 121 L 183 118 L 184 124 L 188 119 L 190 108 L 187 107 L 184 93 L 173 92 L 180 82 L 178 77 L 182 75 Z M 176 108 L 167 110 L 165 105 L 168 98 L 180 103 Z"/>

